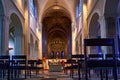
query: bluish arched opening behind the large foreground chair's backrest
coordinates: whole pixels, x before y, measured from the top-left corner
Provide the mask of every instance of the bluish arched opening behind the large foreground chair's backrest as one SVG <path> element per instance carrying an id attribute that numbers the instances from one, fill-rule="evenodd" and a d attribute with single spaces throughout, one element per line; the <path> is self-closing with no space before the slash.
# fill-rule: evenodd
<path id="1" fill-rule="evenodd" d="M 101 31 L 100 31 L 100 23 L 98 22 L 99 15 L 97 13 L 94 13 L 90 25 L 89 25 L 89 38 L 100 38 Z M 98 53 L 100 52 L 100 47 L 92 46 L 90 47 L 90 53 Z"/>

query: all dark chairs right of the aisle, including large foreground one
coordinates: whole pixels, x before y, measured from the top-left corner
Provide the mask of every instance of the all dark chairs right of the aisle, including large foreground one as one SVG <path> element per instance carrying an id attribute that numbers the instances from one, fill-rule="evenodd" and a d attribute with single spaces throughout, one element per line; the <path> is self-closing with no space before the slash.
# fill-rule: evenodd
<path id="1" fill-rule="evenodd" d="M 87 46 L 111 46 L 112 54 L 87 54 Z M 103 72 L 106 73 L 105 79 L 108 80 L 108 70 L 112 70 L 113 79 L 118 80 L 117 70 L 120 67 L 120 54 L 115 53 L 115 44 L 113 38 L 102 39 L 84 39 L 84 55 L 72 55 L 71 59 L 66 61 L 64 71 L 70 70 L 70 76 L 73 77 L 74 69 L 78 70 L 79 80 L 81 79 L 81 70 L 84 70 L 85 80 L 91 77 L 90 70 L 99 70 L 100 79 L 103 80 Z M 88 76 L 89 75 L 89 76 Z"/>

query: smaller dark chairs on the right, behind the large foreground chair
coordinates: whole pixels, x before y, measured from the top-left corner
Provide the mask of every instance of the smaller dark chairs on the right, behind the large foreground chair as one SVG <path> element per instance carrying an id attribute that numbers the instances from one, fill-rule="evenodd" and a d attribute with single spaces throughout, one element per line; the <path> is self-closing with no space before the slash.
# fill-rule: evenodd
<path id="1" fill-rule="evenodd" d="M 104 56 L 106 57 L 104 59 Z M 116 54 L 117 59 L 120 58 L 120 54 Z M 111 63 L 109 62 L 111 61 Z M 73 78 L 74 70 L 78 70 L 78 77 L 79 80 L 81 79 L 81 73 L 85 70 L 85 55 L 84 54 L 76 54 L 72 55 L 71 59 L 66 61 L 66 66 L 64 71 L 67 73 L 67 70 L 70 70 L 70 76 Z M 117 66 L 120 66 L 119 61 L 117 62 Z M 113 67 L 113 54 L 88 54 L 87 55 L 87 67 L 88 67 L 88 74 L 90 75 L 91 69 L 100 69 L 103 68 L 112 68 Z M 82 70 L 82 71 L 81 71 Z M 106 70 L 107 71 L 107 70 Z M 100 69 L 100 76 L 102 78 L 103 70 Z M 106 72 L 108 73 L 108 72 Z M 108 79 L 108 75 L 106 74 L 106 79 Z"/>

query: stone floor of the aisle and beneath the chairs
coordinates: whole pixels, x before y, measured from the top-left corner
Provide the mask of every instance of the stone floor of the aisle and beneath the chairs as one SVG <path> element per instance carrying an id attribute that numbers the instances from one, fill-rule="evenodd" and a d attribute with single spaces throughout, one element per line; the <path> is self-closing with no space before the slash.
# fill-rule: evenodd
<path id="1" fill-rule="evenodd" d="M 99 76 L 96 76 L 96 74 L 91 75 L 92 78 L 89 80 L 100 80 Z M 94 76 L 94 77 L 93 77 Z M 12 79 L 12 80 L 78 80 L 78 74 L 75 73 L 74 74 L 74 78 L 71 78 L 69 76 L 69 72 L 68 74 L 65 74 L 64 72 L 49 72 L 49 71 L 44 71 L 44 73 L 39 73 L 39 75 L 35 75 L 32 73 L 32 77 L 30 78 L 29 76 L 27 76 L 27 79 L 24 79 L 24 76 L 20 76 L 23 78 L 16 78 L 16 79 Z M 0 80 L 7 80 L 7 79 L 0 79 Z M 85 80 L 84 77 L 81 80 Z M 105 79 L 103 79 L 105 80 Z M 112 77 L 109 77 L 108 80 L 113 80 Z M 119 79 L 120 80 L 120 76 Z"/>

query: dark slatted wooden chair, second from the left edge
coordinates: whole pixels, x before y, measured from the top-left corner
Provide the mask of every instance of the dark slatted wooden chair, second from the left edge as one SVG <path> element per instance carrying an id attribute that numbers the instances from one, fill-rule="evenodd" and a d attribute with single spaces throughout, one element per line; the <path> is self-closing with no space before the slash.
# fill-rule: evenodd
<path id="1" fill-rule="evenodd" d="M 25 79 L 27 77 L 27 56 L 26 55 L 13 55 L 12 56 L 12 70 L 14 72 L 15 78 L 16 76 L 19 77 L 21 74 L 21 70 L 25 72 Z"/>

